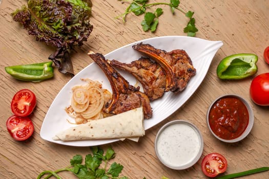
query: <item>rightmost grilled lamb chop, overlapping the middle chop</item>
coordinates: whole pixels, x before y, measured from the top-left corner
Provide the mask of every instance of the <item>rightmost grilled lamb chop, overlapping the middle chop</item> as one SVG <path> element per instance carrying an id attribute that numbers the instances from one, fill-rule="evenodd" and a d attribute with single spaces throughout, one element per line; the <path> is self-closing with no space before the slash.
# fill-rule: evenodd
<path id="1" fill-rule="evenodd" d="M 133 49 L 148 55 L 161 65 L 167 77 L 165 91 L 182 91 L 196 74 L 192 60 L 184 50 L 166 52 L 144 43 L 134 45 Z"/>

